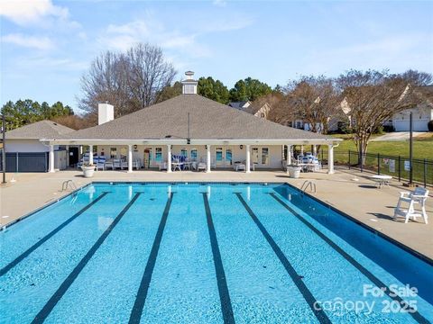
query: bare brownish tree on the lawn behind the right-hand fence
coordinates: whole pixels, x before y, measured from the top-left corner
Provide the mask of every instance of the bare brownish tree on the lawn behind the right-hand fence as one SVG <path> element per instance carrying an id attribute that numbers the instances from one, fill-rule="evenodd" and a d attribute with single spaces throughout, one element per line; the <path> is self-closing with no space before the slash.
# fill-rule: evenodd
<path id="1" fill-rule="evenodd" d="M 360 163 L 364 164 L 362 157 L 373 132 L 395 112 L 416 106 L 419 95 L 414 95 L 413 85 L 406 79 L 389 76 L 387 71 L 350 70 L 339 76 L 338 85 L 344 98 L 343 108 L 354 131 Z"/>

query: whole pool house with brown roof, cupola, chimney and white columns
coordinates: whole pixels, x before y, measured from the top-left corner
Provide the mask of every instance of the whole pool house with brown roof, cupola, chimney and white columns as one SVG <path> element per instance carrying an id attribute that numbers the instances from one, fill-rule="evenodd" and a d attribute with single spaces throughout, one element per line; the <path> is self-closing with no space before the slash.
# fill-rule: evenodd
<path id="1" fill-rule="evenodd" d="M 204 171 L 234 169 L 243 165 L 249 173 L 281 169 L 291 163 L 294 145 L 327 146 L 328 173 L 334 172 L 333 149 L 339 139 L 297 130 L 267 121 L 197 94 L 198 82 L 187 73 L 182 94 L 140 111 L 114 118 L 114 107 L 98 106 L 98 125 L 56 138 L 41 139 L 50 146 L 50 172 L 54 172 L 54 148 L 88 148 L 88 162 L 122 159 L 124 169 L 165 166 L 173 171 L 179 159 L 194 161 Z M 287 158 L 285 157 L 287 156 Z M 110 164 L 113 168 L 113 165 Z M 195 167 L 197 168 L 197 166 Z"/>

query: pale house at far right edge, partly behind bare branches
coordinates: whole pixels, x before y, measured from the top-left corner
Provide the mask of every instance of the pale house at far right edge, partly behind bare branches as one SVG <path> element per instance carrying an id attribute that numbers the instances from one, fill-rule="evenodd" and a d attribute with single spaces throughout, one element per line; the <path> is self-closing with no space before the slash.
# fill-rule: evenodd
<path id="1" fill-rule="evenodd" d="M 412 112 L 413 131 L 428 131 L 428 121 L 433 121 L 433 85 L 419 86 L 415 89 L 422 99 L 417 107 L 394 113 L 391 121 L 395 131 L 410 130 L 410 112 Z"/>

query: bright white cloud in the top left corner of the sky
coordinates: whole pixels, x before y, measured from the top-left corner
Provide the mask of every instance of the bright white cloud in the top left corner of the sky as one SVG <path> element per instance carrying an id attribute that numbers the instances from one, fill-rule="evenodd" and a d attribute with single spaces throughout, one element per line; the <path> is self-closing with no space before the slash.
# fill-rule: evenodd
<path id="1" fill-rule="evenodd" d="M 69 11 L 51 0 L 0 0 L 0 15 L 23 26 L 40 23 L 46 16 L 67 20 Z"/>

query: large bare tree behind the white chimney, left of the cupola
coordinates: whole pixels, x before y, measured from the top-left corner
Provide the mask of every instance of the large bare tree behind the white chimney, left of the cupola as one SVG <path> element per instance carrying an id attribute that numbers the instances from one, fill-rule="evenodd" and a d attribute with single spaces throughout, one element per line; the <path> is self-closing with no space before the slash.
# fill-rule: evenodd
<path id="1" fill-rule="evenodd" d="M 156 103 L 175 75 L 159 47 L 140 43 L 126 53 L 106 51 L 81 77 L 79 108 L 89 118 L 96 117 L 97 103 L 104 102 L 115 106 L 116 117 L 135 112 Z"/>

